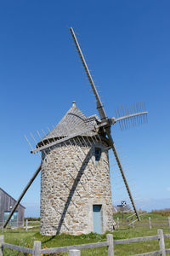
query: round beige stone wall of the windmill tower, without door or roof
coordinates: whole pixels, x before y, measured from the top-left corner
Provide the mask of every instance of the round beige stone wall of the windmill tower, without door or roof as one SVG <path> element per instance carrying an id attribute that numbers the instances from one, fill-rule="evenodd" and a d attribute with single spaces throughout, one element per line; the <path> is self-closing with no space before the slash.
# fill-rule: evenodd
<path id="1" fill-rule="evenodd" d="M 42 152 L 41 234 L 72 235 L 94 231 L 93 205 L 102 205 L 102 233 L 112 230 L 108 146 L 84 137 Z M 95 161 L 95 148 L 101 148 Z"/>

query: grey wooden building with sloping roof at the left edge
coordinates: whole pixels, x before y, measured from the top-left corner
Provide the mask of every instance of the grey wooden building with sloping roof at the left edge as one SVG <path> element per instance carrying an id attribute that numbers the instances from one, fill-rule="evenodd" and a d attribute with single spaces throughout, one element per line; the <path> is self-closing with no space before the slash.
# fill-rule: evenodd
<path id="1" fill-rule="evenodd" d="M 3 189 L 0 188 L 0 226 L 3 227 L 3 224 L 8 218 L 9 213 L 13 209 L 16 200 L 11 195 L 8 195 Z M 24 225 L 24 213 L 26 207 L 19 205 L 12 218 L 9 221 L 11 227 L 23 226 Z"/>

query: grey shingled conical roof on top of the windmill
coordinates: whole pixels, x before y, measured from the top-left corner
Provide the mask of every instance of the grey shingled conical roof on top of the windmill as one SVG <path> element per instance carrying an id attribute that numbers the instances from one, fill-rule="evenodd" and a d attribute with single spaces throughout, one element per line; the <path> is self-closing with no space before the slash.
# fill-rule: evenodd
<path id="1" fill-rule="evenodd" d="M 82 111 L 77 108 L 75 102 L 72 107 L 65 113 L 65 116 L 59 121 L 59 124 L 54 127 L 43 139 L 49 140 L 52 138 L 67 137 L 71 136 L 76 132 L 94 128 L 94 125 L 100 123 L 97 115 L 86 117 Z M 83 136 L 95 136 L 95 131 L 88 131 L 83 133 Z"/>

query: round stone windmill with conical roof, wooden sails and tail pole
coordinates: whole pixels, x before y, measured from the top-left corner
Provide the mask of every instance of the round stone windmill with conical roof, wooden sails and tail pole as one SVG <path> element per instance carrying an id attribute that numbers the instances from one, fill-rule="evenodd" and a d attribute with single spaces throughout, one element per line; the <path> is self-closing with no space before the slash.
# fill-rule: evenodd
<path id="1" fill-rule="evenodd" d="M 109 149 L 115 155 L 127 194 L 139 220 L 133 196 L 111 137 L 111 125 L 116 122 L 119 122 L 122 128 L 136 125 L 146 120 L 147 112 L 144 110 L 144 105 L 138 104 L 135 113 L 132 113 L 131 108 L 126 112 L 117 110 L 116 118 L 107 117 L 72 28 L 71 35 L 94 91 L 99 117 L 96 115 L 86 117 L 73 102 L 72 107 L 52 131 L 43 138 L 39 135 L 40 141 L 36 142 L 36 148 L 32 149 L 31 153 L 42 153 L 41 164 L 8 217 L 9 220 L 26 194 L 26 190 L 41 171 L 40 231 L 46 236 L 63 232 L 79 235 L 113 230 Z M 4 227 L 8 224 L 8 220 Z"/>

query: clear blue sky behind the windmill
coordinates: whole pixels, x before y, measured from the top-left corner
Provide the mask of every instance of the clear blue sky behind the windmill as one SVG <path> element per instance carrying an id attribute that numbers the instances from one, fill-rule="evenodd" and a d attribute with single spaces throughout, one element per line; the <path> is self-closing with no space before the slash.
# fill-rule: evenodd
<path id="1" fill-rule="evenodd" d="M 25 134 L 47 132 L 73 100 L 87 116 L 97 113 L 73 26 L 108 116 L 133 102 L 149 111 L 146 125 L 112 128 L 138 207 L 170 206 L 169 13 L 170 2 L 156 0 L 0 3 L 0 186 L 8 194 L 18 198 L 40 162 Z M 111 156 L 115 204 L 127 198 L 118 175 Z M 39 194 L 37 177 L 22 201 L 26 216 L 38 216 Z"/>

